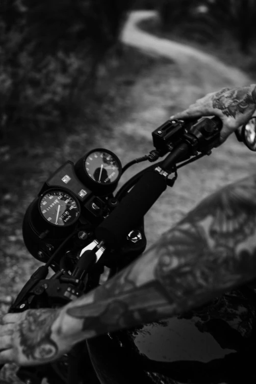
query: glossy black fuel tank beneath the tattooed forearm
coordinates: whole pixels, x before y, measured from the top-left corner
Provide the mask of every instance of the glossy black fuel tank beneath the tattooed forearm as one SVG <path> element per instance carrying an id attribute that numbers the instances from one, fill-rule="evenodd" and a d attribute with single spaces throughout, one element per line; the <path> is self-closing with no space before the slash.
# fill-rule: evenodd
<path id="1" fill-rule="evenodd" d="M 256 291 L 87 340 L 102 384 L 256 383 Z"/>

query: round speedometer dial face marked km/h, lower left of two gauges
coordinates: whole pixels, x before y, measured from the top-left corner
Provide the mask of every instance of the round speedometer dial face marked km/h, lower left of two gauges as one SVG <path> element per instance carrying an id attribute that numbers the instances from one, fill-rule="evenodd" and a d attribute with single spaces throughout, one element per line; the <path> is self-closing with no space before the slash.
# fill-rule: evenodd
<path id="1" fill-rule="evenodd" d="M 46 193 L 39 202 L 43 218 L 55 226 L 69 226 L 79 217 L 77 201 L 61 190 Z"/>

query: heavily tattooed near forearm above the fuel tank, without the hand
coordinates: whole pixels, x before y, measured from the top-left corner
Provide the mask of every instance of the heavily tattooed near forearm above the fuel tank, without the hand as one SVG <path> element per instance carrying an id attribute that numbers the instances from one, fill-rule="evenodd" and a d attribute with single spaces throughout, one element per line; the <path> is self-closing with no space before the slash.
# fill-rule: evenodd
<path id="1" fill-rule="evenodd" d="M 255 196 L 256 175 L 206 198 L 67 314 L 91 337 L 177 315 L 255 278 Z"/>

